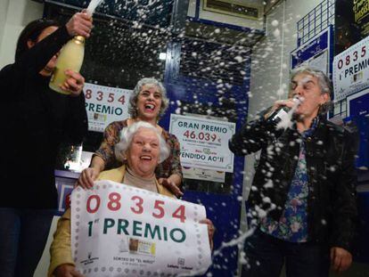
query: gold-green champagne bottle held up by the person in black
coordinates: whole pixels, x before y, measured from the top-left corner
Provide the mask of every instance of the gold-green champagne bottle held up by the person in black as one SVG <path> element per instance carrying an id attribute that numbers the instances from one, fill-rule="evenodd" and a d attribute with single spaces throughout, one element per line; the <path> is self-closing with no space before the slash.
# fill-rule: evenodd
<path id="1" fill-rule="evenodd" d="M 70 92 L 63 91 L 60 87 L 67 78 L 64 71 L 70 69 L 79 72 L 82 67 L 84 55 L 85 37 L 76 36 L 70 39 L 70 41 L 61 48 L 61 53 L 56 61 L 53 76 L 50 79 L 50 88 L 60 94 L 70 94 Z"/>

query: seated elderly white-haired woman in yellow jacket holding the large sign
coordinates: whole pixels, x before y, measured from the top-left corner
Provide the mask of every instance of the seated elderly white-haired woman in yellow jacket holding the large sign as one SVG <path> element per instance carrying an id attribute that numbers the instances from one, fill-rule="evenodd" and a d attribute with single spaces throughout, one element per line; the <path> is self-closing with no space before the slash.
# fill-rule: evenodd
<path id="1" fill-rule="evenodd" d="M 98 180 L 125 183 L 175 198 L 155 177 L 155 167 L 167 159 L 169 155 L 168 145 L 155 126 L 143 121 L 129 126 L 116 145 L 115 154 L 117 159 L 127 160 L 127 162 L 121 167 L 103 171 L 98 176 Z M 209 219 L 201 220 L 201 223 L 208 224 L 211 246 L 214 226 Z M 69 209 L 59 220 L 57 230 L 54 233 L 53 244 L 50 248 L 49 276 L 82 276 L 75 269 L 70 243 Z"/>

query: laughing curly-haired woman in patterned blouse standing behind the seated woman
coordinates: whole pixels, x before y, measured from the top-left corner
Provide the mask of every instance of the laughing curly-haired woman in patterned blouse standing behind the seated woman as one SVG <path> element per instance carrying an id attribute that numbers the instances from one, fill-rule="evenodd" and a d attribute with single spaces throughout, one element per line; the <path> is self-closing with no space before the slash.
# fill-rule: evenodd
<path id="1" fill-rule="evenodd" d="M 119 134 L 133 123 L 145 121 L 159 130 L 170 150 L 167 159 L 158 164 L 155 175 L 159 183 L 174 192 L 177 197 L 182 196 L 183 193 L 179 189 L 182 184 L 182 167 L 179 160 L 178 140 L 174 134 L 169 134 L 158 125 L 160 116 L 168 108 L 168 102 L 166 89 L 160 81 L 152 77 L 144 77 L 139 80 L 129 98 L 128 113 L 130 118 L 114 121 L 105 128 L 102 144 L 99 150 L 94 153 L 90 167 L 82 171 L 78 184 L 84 188 L 91 188 L 102 170 L 120 166 L 121 163 L 114 155 L 114 145 L 119 143 Z"/>

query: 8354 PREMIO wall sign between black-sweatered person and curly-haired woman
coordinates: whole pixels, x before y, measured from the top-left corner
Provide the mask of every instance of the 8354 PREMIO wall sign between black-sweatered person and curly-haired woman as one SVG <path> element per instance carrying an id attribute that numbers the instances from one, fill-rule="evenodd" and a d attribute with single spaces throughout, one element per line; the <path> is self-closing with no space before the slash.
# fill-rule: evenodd
<path id="1" fill-rule="evenodd" d="M 128 118 L 132 90 L 86 83 L 84 92 L 89 131 L 103 132 L 111 122 Z"/>

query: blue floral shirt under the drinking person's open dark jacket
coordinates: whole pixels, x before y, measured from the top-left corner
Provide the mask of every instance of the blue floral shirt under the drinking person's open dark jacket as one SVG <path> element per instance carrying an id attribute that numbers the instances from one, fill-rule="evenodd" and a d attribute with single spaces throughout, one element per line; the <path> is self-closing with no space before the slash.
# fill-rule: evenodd
<path id="1" fill-rule="evenodd" d="M 304 131 L 301 136 L 306 138 L 316 129 L 318 119 L 313 120 L 312 126 Z M 299 145 L 299 160 L 293 175 L 283 214 L 279 222 L 265 217 L 261 220 L 260 229 L 277 239 L 290 242 L 307 241 L 307 196 L 308 177 L 306 145 L 301 140 Z"/>

